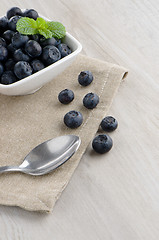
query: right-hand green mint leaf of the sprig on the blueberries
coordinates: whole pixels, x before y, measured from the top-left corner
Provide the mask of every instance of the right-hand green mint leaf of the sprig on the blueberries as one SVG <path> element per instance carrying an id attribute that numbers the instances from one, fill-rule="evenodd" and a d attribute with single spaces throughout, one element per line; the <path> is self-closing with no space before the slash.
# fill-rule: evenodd
<path id="1" fill-rule="evenodd" d="M 60 22 L 47 22 L 47 26 L 48 30 L 52 32 L 52 37 L 60 39 L 66 34 L 66 29 Z"/>

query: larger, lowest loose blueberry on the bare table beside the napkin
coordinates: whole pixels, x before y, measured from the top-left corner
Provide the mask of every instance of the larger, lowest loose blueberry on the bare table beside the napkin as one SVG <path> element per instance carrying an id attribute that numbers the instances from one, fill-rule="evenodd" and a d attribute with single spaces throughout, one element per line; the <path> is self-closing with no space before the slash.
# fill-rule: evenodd
<path id="1" fill-rule="evenodd" d="M 93 139 L 92 147 L 97 153 L 106 153 L 113 146 L 111 137 L 107 134 L 100 134 Z"/>

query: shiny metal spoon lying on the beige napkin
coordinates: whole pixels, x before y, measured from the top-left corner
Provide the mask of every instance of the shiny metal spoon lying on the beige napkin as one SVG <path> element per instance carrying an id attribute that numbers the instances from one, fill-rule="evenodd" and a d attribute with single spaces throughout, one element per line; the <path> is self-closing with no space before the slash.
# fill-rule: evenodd
<path id="1" fill-rule="evenodd" d="M 35 147 L 20 166 L 0 167 L 3 172 L 23 172 L 43 175 L 66 162 L 79 148 L 81 140 L 75 135 L 64 135 L 50 139 Z"/>

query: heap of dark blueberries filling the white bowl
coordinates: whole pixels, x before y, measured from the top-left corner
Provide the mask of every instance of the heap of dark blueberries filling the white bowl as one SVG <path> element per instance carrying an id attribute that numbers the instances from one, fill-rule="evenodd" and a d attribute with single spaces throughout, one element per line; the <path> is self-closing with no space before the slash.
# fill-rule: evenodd
<path id="1" fill-rule="evenodd" d="M 0 18 L 0 83 L 11 84 L 55 63 L 71 53 L 71 49 L 61 39 L 46 39 L 41 35 L 22 35 L 16 31 L 16 23 L 21 17 L 34 20 L 37 11 L 18 7 L 7 11 Z"/>

